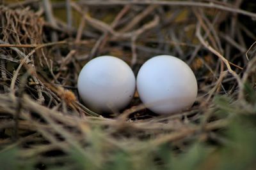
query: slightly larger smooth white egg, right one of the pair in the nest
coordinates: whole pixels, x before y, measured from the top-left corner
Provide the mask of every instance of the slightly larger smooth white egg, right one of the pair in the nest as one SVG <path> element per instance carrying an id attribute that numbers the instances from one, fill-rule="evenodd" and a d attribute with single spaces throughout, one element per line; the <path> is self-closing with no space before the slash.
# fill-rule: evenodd
<path id="1" fill-rule="evenodd" d="M 141 101 L 158 114 L 191 107 L 198 90 L 190 67 L 171 55 L 158 55 L 147 60 L 138 72 L 136 85 Z"/>

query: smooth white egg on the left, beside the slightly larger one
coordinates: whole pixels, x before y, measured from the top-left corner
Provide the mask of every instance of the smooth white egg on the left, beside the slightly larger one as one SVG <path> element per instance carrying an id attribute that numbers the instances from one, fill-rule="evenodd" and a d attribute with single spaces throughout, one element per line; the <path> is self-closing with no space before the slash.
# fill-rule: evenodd
<path id="1" fill-rule="evenodd" d="M 99 113 L 125 108 L 134 95 L 135 87 L 131 68 L 123 60 L 108 55 L 90 60 L 77 81 L 85 106 Z"/>

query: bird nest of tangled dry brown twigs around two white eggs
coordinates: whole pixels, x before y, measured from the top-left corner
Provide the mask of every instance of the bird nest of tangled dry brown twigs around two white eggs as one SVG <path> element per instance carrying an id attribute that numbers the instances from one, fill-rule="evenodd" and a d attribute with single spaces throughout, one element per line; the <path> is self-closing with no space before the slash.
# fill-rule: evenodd
<path id="1" fill-rule="evenodd" d="M 234 117 L 255 115 L 256 32 L 248 21 L 256 14 L 239 8 L 246 3 L 148 2 L 0 6 L 3 168 L 172 167 L 164 153 L 175 159 L 195 143 L 225 146 L 223 132 Z M 160 54 L 193 69 L 198 97 L 188 110 L 159 116 L 136 94 L 111 115 L 81 104 L 77 76 L 93 57 L 120 57 L 137 73 Z M 7 154 L 12 160 L 4 159 Z"/>

